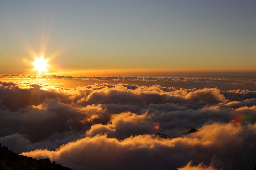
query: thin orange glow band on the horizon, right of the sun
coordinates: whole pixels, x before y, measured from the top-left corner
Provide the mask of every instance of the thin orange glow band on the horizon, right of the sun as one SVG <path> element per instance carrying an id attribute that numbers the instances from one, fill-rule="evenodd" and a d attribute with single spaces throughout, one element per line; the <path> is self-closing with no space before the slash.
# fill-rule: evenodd
<path id="1" fill-rule="evenodd" d="M 70 76 L 137 76 L 137 77 L 165 77 L 165 76 L 249 76 L 254 75 L 253 71 L 227 71 L 227 70 L 182 70 L 182 69 L 65 69 L 51 68 L 49 75 L 70 75 Z"/>

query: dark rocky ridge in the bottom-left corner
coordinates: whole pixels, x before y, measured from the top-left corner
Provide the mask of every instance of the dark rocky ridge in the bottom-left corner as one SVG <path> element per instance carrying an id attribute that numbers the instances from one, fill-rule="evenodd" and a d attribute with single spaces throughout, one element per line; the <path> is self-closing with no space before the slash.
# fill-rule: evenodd
<path id="1" fill-rule="evenodd" d="M 50 159 L 33 159 L 19 155 L 9 150 L 0 144 L 0 170 L 72 170 L 56 164 L 51 163 Z"/>

